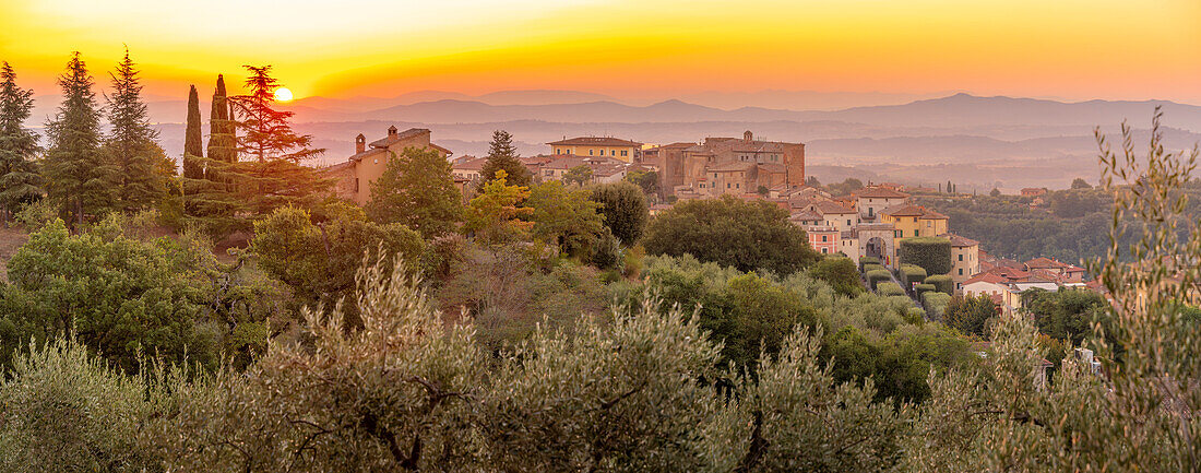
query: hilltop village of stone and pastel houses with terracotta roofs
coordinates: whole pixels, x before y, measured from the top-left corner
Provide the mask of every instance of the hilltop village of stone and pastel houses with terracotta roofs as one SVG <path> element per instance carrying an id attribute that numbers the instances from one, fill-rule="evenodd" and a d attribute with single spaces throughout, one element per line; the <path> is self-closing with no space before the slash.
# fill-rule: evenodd
<path id="1" fill-rule="evenodd" d="M 365 134 L 359 134 L 354 139 L 355 152 L 325 173 L 335 178 L 340 197 L 364 204 L 370 199 L 369 184 L 383 173 L 389 156 L 406 148 L 428 149 L 450 160 L 455 185 L 468 199 L 480 181 L 486 157 L 455 157 L 453 151 L 435 144 L 431 134 L 426 128 L 399 131 L 395 126 L 370 143 Z M 921 305 L 930 305 L 922 293 L 937 291 L 948 295 L 987 295 L 999 312 L 1018 313 L 1022 293 L 1032 288 L 1101 291 L 1085 280 L 1085 269 L 1076 264 L 1047 257 L 1017 262 L 982 251 L 978 241 L 951 232 L 946 215 L 914 204 L 904 185 L 868 182 L 841 196 L 812 186 L 805 174 L 803 143 L 757 139 L 748 130 L 742 137 L 705 137 L 697 143 L 652 145 L 614 137 L 564 137 L 546 146 L 545 154 L 520 157 L 534 182 L 611 184 L 644 173 L 656 181 L 652 216 L 671 209 L 674 203 L 722 196 L 769 202 L 788 210 L 789 221 L 806 230 L 809 246 L 817 252 L 859 261 L 864 282 L 871 289 L 880 291 L 870 273 L 884 269 L 890 282 Z M 912 190 L 925 194 L 940 191 Z M 1023 197 L 1034 199 L 1032 205 L 1041 204 L 1044 194 L 1045 188 L 1022 190 Z M 904 261 L 902 247 L 930 244 L 949 251 L 938 253 L 937 258 L 943 261 L 920 264 L 930 281 L 908 280 L 907 274 L 914 270 L 910 263 L 918 262 Z M 944 267 L 946 271 L 937 269 Z M 943 277 L 949 280 L 945 288 L 940 283 Z"/>

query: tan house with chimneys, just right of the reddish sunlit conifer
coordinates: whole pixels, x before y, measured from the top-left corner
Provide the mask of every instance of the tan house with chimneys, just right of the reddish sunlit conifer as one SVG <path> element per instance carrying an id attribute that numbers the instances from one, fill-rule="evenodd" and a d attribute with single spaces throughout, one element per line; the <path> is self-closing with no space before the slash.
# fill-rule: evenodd
<path id="1" fill-rule="evenodd" d="M 359 133 L 354 138 L 354 155 L 343 163 L 325 168 L 325 175 L 335 179 L 337 197 L 354 200 L 359 205 L 366 204 L 371 200 L 371 182 L 383 175 L 393 154 L 400 156 L 406 148 L 432 149 L 442 157 L 450 155 L 450 150 L 430 143 L 429 130 L 408 128 L 400 132 L 395 126 L 389 126 L 387 136 L 370 144 Z"/>

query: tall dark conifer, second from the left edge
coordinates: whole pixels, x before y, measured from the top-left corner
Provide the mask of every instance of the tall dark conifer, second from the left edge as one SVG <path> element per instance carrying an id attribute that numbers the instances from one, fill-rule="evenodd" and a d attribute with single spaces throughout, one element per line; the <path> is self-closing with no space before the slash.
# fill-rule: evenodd
<path id="1" fill-rule="evenodd" d="M 73 53 L 66 72 L 59 76 L 62 104 L 46 124 L 46 190 L 78 224 L 83 224 L 85 215 L 98 214 L 112 203 L 113 169 L 100 150 L 100 107 L 92 85 L 88 66 L 78 52 Z"/>

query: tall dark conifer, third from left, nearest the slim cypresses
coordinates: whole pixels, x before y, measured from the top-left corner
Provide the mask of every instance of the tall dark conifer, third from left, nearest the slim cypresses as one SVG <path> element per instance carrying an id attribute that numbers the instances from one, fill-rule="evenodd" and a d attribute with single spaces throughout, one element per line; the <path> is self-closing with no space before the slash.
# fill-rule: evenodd
<path id="1" fill-rule="evenodd" d="M 167 190 L 160 166 L 167 154 L 156 143 L 159 132 L 150 126 L 138 72 L 126 50 L 116 71 L 109 73 L 113 78 L 113 95 L 108 97 L 112 131 L 104 140 L 103 152 L 115 170 L 114 197 L 121 210 L 149 208 L 166 197 Z"/>

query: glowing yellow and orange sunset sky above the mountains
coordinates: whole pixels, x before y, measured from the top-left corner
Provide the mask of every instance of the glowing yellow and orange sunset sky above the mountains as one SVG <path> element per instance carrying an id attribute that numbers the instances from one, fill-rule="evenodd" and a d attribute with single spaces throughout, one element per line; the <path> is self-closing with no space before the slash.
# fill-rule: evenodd
<path id="1" fill-rule="evenodd" d="M 0 0 L 0 60 L 54 94 L 129 47 L 147 92 L 275 67 L 298 98 L 560 89 L 1201 104 L 1201 0 Z"/>

